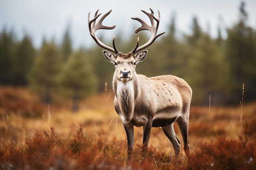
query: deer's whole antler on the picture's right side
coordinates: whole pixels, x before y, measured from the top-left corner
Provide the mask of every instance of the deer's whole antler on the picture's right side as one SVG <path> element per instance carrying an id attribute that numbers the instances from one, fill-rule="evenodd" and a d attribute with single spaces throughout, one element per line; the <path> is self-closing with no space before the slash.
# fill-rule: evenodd
<path id="1" fill-rule="evenodd" d="M 138 51 L 141 51 L 142 49 L 145 49 L 146 47 L 150 46 L 157 39 L 157 37 L 159 37 L 160 35 L 162 35 L 166 32 L 166 31 L 164 31 L 162 33 L 157 34 L 157 29 L 158 29 L 159 22 L 160 22 L 160 12 L 159 12 L 159 10 L 157 10 L 158 18 L 156 18 L 154 15 L 154 11 L 151 8 L 149 8 L 149 9 L 150 9 L 151 13 L 148 13 L 144 10 L 141 10 L 141 11 L 144 12 L 146 15 L 148 15 L 148 18 L 150 19 L 150 22 L 151 22 L 151 26 L 149 26 L 144 20 L 141 20 L 140 18 L 132 18 L 133 20 L 137 20 L 141 23 L 141 26 L 135 30 L 135 33 L 138 33 L 141 30 L 148 30 L 152 34 L 150 39 L 148 40 L 148 42 L 146 44 L 140 46 L 139 48 L 138 48 L 138 46 L 139 46 L 139 38 L 138 38 L 137 44 L 131 52 L 132 54 L 135 54 Z M 156 26 L 155 26 L 154 20 L 157 22 Z"/>

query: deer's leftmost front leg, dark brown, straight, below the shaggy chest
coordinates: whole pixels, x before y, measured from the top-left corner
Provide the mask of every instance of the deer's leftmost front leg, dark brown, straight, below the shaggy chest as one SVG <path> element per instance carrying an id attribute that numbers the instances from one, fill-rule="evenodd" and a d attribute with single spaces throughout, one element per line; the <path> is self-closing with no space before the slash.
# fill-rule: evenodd
<path id="1" fill-rule="evenodd" d="M 128 159 L 131 157 L 131 152 L 133 150 L 133 143 L 134 143 L 134 129 L 133 125 L 124 123 L 124 129 L 126 131 L 127 135 L 127 153 L 128 153 Z"/>

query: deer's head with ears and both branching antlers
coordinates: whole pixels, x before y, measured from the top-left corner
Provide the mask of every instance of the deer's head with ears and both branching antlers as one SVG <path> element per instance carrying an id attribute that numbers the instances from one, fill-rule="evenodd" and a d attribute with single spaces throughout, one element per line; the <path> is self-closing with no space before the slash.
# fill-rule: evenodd
<path id="1" fill-rule="evenodd" d="M 115 65 L 115 74 L 114 74 L 114 78 L 122 81 L 122 82 L 127 82 L 129 80 L 132 80 L 133 77 L 135 76 L 136 72 L 135 72 L 135 67 L 136 64 L 138 62 L 141 62 L 147 55 L 148 51 L 141 51 L 143 49 L 145 49 L 146 47 L 150 46 L 157 37 L 159 37 L 160 35 L 164 34 L 164 32 L 157 34 L 157 29 L 159 26 L 159 21 L 160 21 L 160 13 L 158 11 L 158 18 L 156 18 L 154 16 L 154 12 L 152 9 L 150 9 L 151 13 L 147 13 L 146 11 L 141 10 L 142 12 L 144 12 L 146 15 L 148 15 L 150 22 L 151 22 L 151 26 L 149 26 L 146 22 L 144 22 L 143 20 L 141 20 L 140 18 L 132 18 L 134 20 L 139 21 L 142 25 L 137 28 L 135 30 L 135 33 L 138 33 L 141 30 L 148 30 L 152 33 L 151 38 L 148 40 L 148 42 L 140 47 L 139 46 L 139 38 L 137 38 L 137 44 L 135 46 L 135 48 L 127 53 L 127 54 L 123 54 L 121 52 L 119 52 L 115 46 L 115 36 L 113 38 L 113 48 L 103 44 L 95 35 L 95 32 L 98 29 L 114 29 L 114 26 L 104 26 L 102 25 L 102 21 L 106 18 L 106 16 L 108 16 L 111 12 L 108 11 L 105 15 L 103 15 L 101 17 L 101 19 L 96 23 L 97 18 L 101 15 L 97 14 L 99 10 L 96 11 L 94 18 L 91 20 L 90 19 L 90 12 L 88 14 L 88 24 L 89 24 L 89 31 L 90 31 L 90 35 L 92 36 L 92 38 L 94 39 L 94 41 L 101 46 L 102 48 L 108 50 L 108 51 L 103 51 L 104 56 L 106 57 L 106 59 L 110 62 L 112 62 Z M 155 21 L 157 22 L 157 24 L 155 25 Z M 109 52 L 111 51 L 111 52 Z M 141 52 L 139 52 L 141 51 Z M 139 53 L 138 53 L 139 52 Z"/>

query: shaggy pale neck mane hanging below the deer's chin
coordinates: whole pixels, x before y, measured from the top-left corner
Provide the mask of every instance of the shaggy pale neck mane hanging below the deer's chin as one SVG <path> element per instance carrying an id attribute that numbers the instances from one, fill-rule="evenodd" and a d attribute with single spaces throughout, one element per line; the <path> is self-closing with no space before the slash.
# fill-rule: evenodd
<path id="1" fill-rule="evenodd" d="M 139 81 L 137 76 L 128 82 L 113 79 L 115 92 L 121 114 L 128 121 L 133 116 L 135 101 L 139 95 Z"/>

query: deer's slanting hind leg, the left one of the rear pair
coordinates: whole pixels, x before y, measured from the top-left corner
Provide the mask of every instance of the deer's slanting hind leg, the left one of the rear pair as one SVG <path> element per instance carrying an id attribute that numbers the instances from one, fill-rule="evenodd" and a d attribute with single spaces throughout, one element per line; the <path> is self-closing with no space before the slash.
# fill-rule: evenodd
<path id="1" fill-rule="evenodd" d="M 164 131 L 164 134 L 170 139 L 171 143 L 173 144 L 175 156 L 177 158 L 180 157 L 180 140 L 178 139 L 177 135 L 174 132 L 173 129 L 173 123 L 169 124 L 168 126 L 162 127 L 162 130 Z"/>

